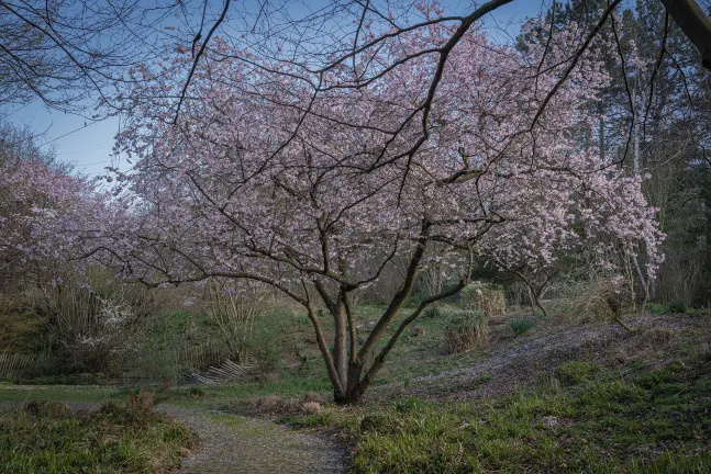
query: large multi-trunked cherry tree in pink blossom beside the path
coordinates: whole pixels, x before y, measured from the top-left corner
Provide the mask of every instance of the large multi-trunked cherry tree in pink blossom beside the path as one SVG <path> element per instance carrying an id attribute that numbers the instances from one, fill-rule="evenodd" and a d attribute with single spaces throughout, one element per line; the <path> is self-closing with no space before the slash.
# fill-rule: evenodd
<path id="1" fill-rule="evenodd" d="M 640 180 L 577 133 L 597 121 L 582 105 L 609 80 L 587 48 L 595 30 L 512 48 L 477 15 L 462 29 L 420 8 L 423 26 L 326 67 L 214 38 L 197 67 L 178 47 L 133 70 L 155 79 L 121 98 L 132 115 L 116 151 L 134 168 L 115 174 L 107 217 L 70 240 L 76 257 L 148 285 L 278 289 L 307 312 L 338 403 L 363 397 L 408 326 L 464 287 L 480 257 L 543 267 L 554 249 L 585 246 L 614 266 L 609 250 L 622 246 L 644 249 L 653 273 L 662 235 Z M 55 234 L 69 235 L 64 225 Z M 396 260 L 402 284 L 359 335 L 353 295 Z M 443 266 L 458 283 L 406 307 L 418 276 Z"/>

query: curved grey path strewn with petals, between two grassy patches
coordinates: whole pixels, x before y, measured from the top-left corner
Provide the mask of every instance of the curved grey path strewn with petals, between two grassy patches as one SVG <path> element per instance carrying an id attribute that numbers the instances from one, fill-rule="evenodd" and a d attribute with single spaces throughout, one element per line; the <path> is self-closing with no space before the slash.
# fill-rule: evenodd
<path id="1" fill-rule="evenodd" d="M 321 437 L 269 421 L 159 405 L 200 437 L 201 450 L 182 462 L 180 474 L 346 472 L 346 453 Z"/>

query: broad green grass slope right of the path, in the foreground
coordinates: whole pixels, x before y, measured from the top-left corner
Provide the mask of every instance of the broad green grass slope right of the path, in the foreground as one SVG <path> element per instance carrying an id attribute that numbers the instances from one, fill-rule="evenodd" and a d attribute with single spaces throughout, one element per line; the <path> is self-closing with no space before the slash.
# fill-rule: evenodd
<path id="1" fill-rule="evenodd" d="M 356 473 L 711 472 L 711 381 L 670 363 L 566 362 L 565 384 L 470 403 L 418 398 L 285 419 L 338 427 Z"/>

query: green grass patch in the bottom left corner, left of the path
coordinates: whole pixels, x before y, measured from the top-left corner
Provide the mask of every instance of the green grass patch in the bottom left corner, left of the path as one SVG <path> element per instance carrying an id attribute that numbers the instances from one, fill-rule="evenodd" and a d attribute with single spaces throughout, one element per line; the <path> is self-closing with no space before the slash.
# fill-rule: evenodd
<path id="1" fill-rule="evenodd" d="M 77 413 L 36 402 L 0 418 L 0 472 L 162 473 L 196 443 L 188 428 L 153 410 L 138 415 L 108 402 Z"/>

